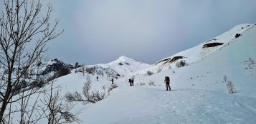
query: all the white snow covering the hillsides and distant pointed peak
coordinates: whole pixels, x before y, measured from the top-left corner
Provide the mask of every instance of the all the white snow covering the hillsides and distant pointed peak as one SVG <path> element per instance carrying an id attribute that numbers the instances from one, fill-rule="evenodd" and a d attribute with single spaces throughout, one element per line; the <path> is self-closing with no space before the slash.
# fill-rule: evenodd
<path id="1" fill-rule="evenodd" d="M 204 55 L 201 53 L 205 50 L 202 48 L 205 42 L 174 55 L 185 56 L 184 60 L 189 62 L 189 66 L 173 68 L 174 63 L 149 66 L 125 56 L 107 64 L 98 64 L 113 68 L 125 76 L 115 80 L 118 88 L 113 89 L 107 98 L 87 105 L 76 102 L 73 113 L 80 118 L 80 123 L 93 124 L 255 123 L 256 65 L 248 68 L 248 60 L 256 60 L 256 26 L 247 25 L 235 26 L 214 38 L 224 45 L 211 48 Z M 242 36 L 234 38 L 236 33 Z M 162 70 L 156 73 L 159 68 Z M 155 74 L 146 76 L 146 71 Z M 128 86 L 128 78 L 132 74 L 135 76 L 134 87 Z M 227 93 L 224 75 L 234 83 L 236 93 Z M 100 81 L 96 81 L 96 75 L 89 76 L 92 91 L 100 91 L 111 83 L 106 76 L 100 76 Z M 165 91 L 164 76 L 170 76 L 172 91 Z M 57 78 L 54 85 L 61 86 L 62 95 L 67 91 L 81 93 L 86 77 L 87 73 L 85 76 L 71 73 Z M 150 81 L 155 86 L 149 86 Z M 141 86 L 140 83 L 146 85 Z M 41 120 L 40 123 L 46 121 Z"/>

